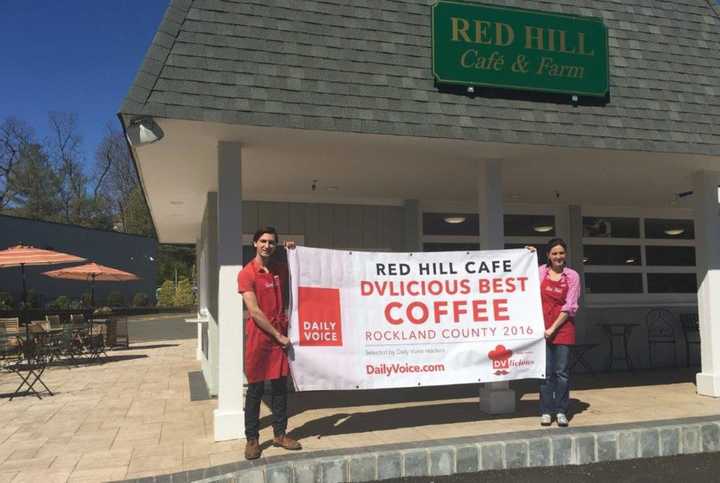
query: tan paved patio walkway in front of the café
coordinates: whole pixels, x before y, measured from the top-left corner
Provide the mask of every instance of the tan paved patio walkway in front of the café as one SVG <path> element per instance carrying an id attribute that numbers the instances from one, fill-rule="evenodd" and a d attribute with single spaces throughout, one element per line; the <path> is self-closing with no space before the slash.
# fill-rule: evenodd
<path id="1" fill-rule="evenodd" d="M 244 442 L 213 442 L 216 401 L 190 400 L 194 354 L 193 339 L 136 342 L 102 365 L 49 369 L 54 397 L 0 397 L 0 482 L 117 480 L 241 460 Z M 684 369 L 576 377 L 572 425 L 720 414 L 693 379 Z M 16 380 L 1 373 L 0 394 Z M 475 386 L 291 394 L 291 434 L 312 451 L 537 429 L 536 384 L 515 388 L 518 412 L 506 417 L 481 414 Z"/>

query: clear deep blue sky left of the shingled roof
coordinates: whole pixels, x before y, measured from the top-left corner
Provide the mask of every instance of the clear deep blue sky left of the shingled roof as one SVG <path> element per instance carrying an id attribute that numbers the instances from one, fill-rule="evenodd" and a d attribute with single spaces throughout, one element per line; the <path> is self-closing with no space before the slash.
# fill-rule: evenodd
<path id="1" fill-rule="evenodd" d="M 0 120 L 40 139 L 49 111 L 75 112 L 86 164 L 142 63 L 169 0 L 0 0 Z"/>

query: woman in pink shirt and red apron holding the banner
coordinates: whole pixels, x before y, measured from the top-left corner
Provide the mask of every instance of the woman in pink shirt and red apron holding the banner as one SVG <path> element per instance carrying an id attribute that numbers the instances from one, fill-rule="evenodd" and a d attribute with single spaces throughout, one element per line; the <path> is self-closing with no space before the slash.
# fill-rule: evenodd
<path id="1" fill-rule="evenodd" d="M 578 309 L 580 277 L 565 265 L 567 244 L 563 239 L 550 240 L 546 256 L 547 263 L 539 267 L 546 342 L 545 380 L 540 385 L 540 424 L 550 426 L 554 415 L 558 426 L 567 426 L 568 356 L 569 346 L 575 344 L 573 319 Z"/>

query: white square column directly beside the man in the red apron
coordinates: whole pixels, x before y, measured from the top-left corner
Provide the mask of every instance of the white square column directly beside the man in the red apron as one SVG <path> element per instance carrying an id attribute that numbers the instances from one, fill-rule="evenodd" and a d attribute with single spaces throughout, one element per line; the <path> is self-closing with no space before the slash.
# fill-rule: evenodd
<path id="1" fill-rule="evenodd" d="M 243 412 L 243 303 L 237 293 L 242 268 L 241 154 L 236 143 L 218 143 L 218 408 L 215 441 L 245 437 Z"/>

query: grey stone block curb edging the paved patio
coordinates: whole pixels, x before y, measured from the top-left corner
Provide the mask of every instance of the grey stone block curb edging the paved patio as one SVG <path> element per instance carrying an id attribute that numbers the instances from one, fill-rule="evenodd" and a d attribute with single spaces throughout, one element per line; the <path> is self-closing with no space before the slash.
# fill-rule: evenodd
<path id="1" fill-rule="evenodd" d="M 339 483 L 720 451 L 720 416 L 315 451 L 136 482 Z"/>

